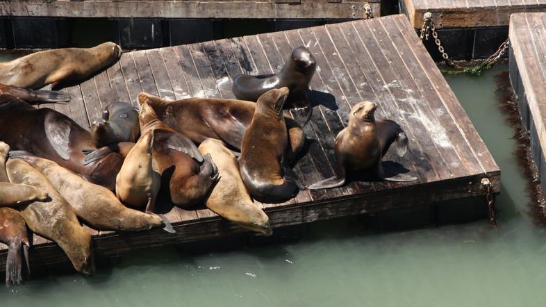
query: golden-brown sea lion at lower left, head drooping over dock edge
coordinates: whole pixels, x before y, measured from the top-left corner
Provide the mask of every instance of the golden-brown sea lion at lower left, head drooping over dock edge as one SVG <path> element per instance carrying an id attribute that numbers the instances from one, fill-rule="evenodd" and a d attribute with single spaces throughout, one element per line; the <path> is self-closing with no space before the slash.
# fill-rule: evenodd
<path id="1" fill-rule="evenodd" d="M 49 194 L 49 201 L 35 201 L 21 211 L 28 228 L 56 242 L 65 251 L 76 271 L 93 274 L 91 234 L 83 229 L 74 209 L 44 175 L 23 160 L 8 160 L 6 169 L 11 182 L 33 185 Z"/>

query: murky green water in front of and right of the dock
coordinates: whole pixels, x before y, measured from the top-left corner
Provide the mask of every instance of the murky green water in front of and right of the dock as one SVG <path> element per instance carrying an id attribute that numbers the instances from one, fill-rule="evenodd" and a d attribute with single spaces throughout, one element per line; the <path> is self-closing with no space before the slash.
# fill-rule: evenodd
<path id="1" fill-rule="evenodd" d="M 135 252 L 91 278 L 0 290 L 0 306 L 544 306 L 546 233 L 527 214 L 513 131 L 494 99 L 501 69 L 447 77 L 502 169 L 498 231 L 481 220 L 377 234 L 340 219 L 267 247 Z"/>

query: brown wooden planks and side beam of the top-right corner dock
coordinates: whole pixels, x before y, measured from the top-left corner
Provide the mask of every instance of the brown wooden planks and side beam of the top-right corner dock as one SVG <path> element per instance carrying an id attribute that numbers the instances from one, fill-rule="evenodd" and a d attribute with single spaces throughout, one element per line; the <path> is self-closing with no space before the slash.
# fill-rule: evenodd
<path id="1" fill-rule="evenodd" d="M 438 28 L 507 26 L 512 13 L 544 12 L 546 0 L 399 0 L 413 28 L 432 13 Z"/>

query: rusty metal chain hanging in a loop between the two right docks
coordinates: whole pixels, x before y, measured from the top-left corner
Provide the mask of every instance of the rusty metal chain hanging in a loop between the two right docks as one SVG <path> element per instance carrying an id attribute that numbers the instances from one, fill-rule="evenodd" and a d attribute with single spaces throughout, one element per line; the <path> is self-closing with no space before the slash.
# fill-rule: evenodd
<path id="1" fill-rule="evenodd" d="M 486 60 L 483 60 L 479 65 L 474 67 L 465 67 L 458 65 L 454 60 L 449 58 L 449 55 L 445 51 L 444 47 L 442 46 L 442 42 L 440 42 L 440 39 L 438 38 L 438 31 L 436 31 L 436 26 L 434 24 L 434 21 L 432 20 L 432 14 L 430 12 L 424 13 L 423 18 L 423 25 L 421 27 L 421 33 L 420 33 L 420 39 L 422 41 L 429 40 L 430 35 L 432 34 L 432 37 L 434 38 L 434 43 L 436 44 L 436 47 L 438 47 L 438 51 L 440 51 L 440 54 L 442 55 L 442 58 L 445 60 L 445 63 L 449 65 L 450 67 L 454 68 L 455 70 L 448 71 L 451 73 L 461 73 L 465 72 L 467 74 L 472 74 L 474 76 L 481 76 L 483 72 L 485 72 L 487 69 L 490 69 L 497 63 L 499 58 L 506 52 L 506 49 L 508 49 L 508 46 L 510 44 L 509 40 L 506 39 L 502 44 L 499 46 L 499 49 L 495 51 L 489 58 L 486 58 Z"/>

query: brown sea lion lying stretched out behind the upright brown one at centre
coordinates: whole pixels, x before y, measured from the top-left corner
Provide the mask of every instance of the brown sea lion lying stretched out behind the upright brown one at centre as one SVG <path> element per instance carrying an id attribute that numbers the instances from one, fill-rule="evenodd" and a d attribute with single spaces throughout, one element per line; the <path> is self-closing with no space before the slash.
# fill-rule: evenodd
<path id="1" fill-rule="evenodd" d="M 242 135 L 252 121 L 256 103 L 235 99 L 190 98 L 167 101 L 150 94 L 138 95 L 154 109 L 158 119 L 182 133 L 190 140 L 201 143 L 208 138 L 222 140 L 240 151 Z M 294 119 L 284 117 L 290 146 L 287 159 L 292 160 L 304 146 L 305 134 Z"/>

